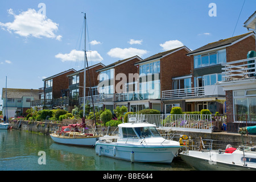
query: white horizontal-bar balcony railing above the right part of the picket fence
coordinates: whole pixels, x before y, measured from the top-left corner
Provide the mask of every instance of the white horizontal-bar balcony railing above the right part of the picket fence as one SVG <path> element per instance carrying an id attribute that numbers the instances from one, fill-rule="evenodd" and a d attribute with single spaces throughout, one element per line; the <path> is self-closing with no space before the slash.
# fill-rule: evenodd
<path id="1" fill-rule="evenodd" d="M 176 90 L 165 90 L 162 91 L 162 99 L 179 98 L 179 97 L 198 97 L 204 96 L 204 86 L 187 88 L 187 89 L 176 89 Z"/>

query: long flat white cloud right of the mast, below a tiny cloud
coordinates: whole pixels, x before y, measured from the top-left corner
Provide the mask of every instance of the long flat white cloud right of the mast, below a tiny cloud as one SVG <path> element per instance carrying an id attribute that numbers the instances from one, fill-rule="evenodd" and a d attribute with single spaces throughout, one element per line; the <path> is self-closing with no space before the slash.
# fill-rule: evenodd
<path id="1" fill-rule="evenodd" d="M 110 51 L 108 52 L 108 55 L 110 57 L 117 57 L 119 59 L 126 59 L 128 57 L 132 57 L 132 56 L 139 56 L 142 57 L 144 54 L 146 54 L 147 51 L 143 50 L 143 49 L 137 49 L 137 48 L 113 48 L 110 49 Z"/>

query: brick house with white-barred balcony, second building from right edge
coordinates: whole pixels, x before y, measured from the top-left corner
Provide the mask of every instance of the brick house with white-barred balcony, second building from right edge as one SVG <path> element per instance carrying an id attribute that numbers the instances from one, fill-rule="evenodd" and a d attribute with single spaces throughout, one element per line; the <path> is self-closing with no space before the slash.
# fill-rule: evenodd
<path id="1" fill-rule="evenodd" d="M 224 90 L 216 83 L 222 81 L 222 65 L 231 61 L 246 59 L 247 52 L 255 48 L 253 33 L 234 36 L 209 43 L 187 53 L 191 59 L 192 74 L 183 76 L 187 88 L 174 86 L 173 90 L 163 91 L 162 100 L 180 101 L 183 111 L 209 109 L 212 113 L 224 112 L 226 100 Z M 191 78 L 191 86 L 189 87 Z M 174 78 L 179 80 L 179 78 Z M 181 79 L 182 80 L 182 79 Z M 175 83 L 179 85 L 180 82 Z"/>

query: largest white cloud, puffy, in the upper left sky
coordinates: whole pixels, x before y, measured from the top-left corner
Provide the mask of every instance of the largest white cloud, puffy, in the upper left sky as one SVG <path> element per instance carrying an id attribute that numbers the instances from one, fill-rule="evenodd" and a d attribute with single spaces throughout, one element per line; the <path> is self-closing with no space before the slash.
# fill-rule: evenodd
<path id="1" fill-rule="evenodd" d="M 55 34 L 59 24 L 52 22 L 51 19 L 43 14 L 37 13 L 34 9 L 28 9 L 19 15 L 15 15 L 13 10 L 9 9 L 8 13 L 14 16 L 14 21 L 8 23 L 0 22 L 2 29 L 5 30 L 7 28 L 7 31 L 24 37 L 46 37 L 61 40 L 62 36 Z"/>

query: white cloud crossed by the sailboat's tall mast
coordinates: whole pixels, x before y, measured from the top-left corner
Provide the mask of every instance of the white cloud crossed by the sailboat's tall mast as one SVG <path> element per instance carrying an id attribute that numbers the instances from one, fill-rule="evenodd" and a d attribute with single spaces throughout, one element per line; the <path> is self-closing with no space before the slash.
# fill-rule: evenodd
<path id="1" fill-rule="evenodd" d="M 84 61 L 84 51 L 77 51 L 73 49 L 69 53 L 59 53 L 55 55 L 56 58 L 61 59 L 62 62 L 65 61 Z M 89 51 L 87 52 L 87 59 L 89 61 L 102 61 L 103 58 L 101 57 L 100 53 L 97 51 Z"/>

